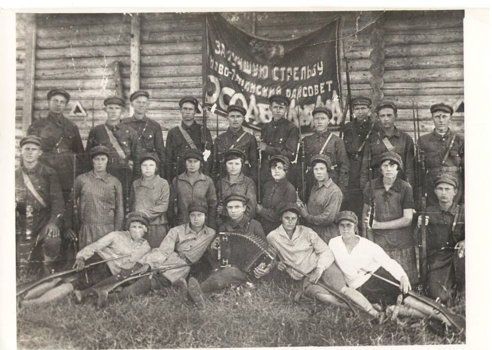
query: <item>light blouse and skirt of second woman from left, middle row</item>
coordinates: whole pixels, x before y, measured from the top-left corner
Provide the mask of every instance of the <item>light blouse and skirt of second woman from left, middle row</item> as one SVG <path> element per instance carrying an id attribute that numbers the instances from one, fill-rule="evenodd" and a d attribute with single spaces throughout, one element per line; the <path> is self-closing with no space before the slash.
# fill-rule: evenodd
<path id="1" fill-rule="evenodd" d="M 133 181 L 130 191 L 130 211 L 142 213 L 149 219 L 149 231 L 145 238 L 152 248 L 160 246 L 166 236 L 169 185 L 159 175 L 152 179 L 143 177 Z"/>

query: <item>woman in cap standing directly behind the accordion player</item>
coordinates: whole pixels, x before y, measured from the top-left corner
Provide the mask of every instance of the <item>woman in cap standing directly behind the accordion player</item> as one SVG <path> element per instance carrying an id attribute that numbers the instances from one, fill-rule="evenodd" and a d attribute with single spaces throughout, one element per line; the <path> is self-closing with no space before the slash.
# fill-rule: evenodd
<path id="1" fill-rule="evenodd" d="M 220 224 L 228 220 L 224 198 L 232 193 L 246 196 L 246 218 L 253 219 L 256 211 L 256 187 L 249 177 L 241 170 L 246 160 L 246 154 L 237 148 L 231 148 L 224 153 L 224 163 L 227 175 L 217 182 L 216 191 L 220 193 L 217 206 L 217 220 Z"/>

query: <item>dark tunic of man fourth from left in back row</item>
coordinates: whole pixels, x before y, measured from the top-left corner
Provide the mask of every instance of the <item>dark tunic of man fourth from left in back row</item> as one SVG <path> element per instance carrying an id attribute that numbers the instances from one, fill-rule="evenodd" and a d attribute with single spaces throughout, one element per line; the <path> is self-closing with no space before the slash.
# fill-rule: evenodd
<path id="1" fill-rule="evenodd" d="M 205 150 L 210 151 L 210 155 L 207 159 L 204 157 L 203 173 L 207 176 L 212 174 L 212 164 L 214 163 L 212 135 L 208 127 L 204 127 L 202 132 L 202 125 L 193 121 L 191 126 L 187 126 L 181 122 L 181 127 L 188 133 L 191 140 L 195 143 L 195 147 L 203 153 Z M 166 161 L 168 166 L 166 167 L 166 179 L 167 181 L 172 181 L 178 174 L 182 174 L 186 171 L 186 166 L 184 162 L 184 152 L 186 149 L 191 148 L 186 139 L 183 136 L 179 127 L 173 127 L 167 133 L 166 138 Z M 178 161 L 179 157 L 179 162 Z M 178 169 L 178 171 L 176 171 Z"/>

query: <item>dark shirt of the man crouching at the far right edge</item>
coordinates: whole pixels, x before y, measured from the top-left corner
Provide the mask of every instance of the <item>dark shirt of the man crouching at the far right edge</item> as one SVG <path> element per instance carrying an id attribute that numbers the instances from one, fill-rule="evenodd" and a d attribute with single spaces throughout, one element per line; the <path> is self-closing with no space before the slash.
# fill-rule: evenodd
<path id="1" fill-rule="evenodd" d="M 426 208 L 426 215 L 429 216 L 427 249 L 430 253 L 441 251 L 441 248 L 454 248 L 464 239 L 464 206 L 460 207 L 453 232 L 453 223 L 458 213 L 458 206 L 455 203 L 448 210 L 443 210 L 438 205 Z"/>

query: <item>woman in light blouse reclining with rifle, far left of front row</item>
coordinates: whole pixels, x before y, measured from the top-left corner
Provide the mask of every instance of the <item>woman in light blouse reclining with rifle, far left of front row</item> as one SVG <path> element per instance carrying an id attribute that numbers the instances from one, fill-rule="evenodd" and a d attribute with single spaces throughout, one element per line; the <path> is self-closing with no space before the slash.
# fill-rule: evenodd
<path id="1" fill-rule="evenodd" d="M 77 302 L 81 302 L 87 293 L 87 288 L 97 286 L 100 281 L 118 275 L 123 269 L 132 267 L 138 259 L 151 251 L 147 241 L 142 238 L 147 232 L 148 226 L 149 221 L 140 213 L 128 214 L 126 218 L 127 231 L 110 232 L 77 253 L 73 267 L 77 268 L 79 273 L 75 275 L 75 279 L 71 282 L 65 282 L 66 280 L 62 278 L 56 278 L 36 286 L 27 293 L 21 306 L 51 302 L 70 294 L 75 289 Z M 127 254 L 131 255 L 93 265 L 83 271 L 86 264 Z"/>

